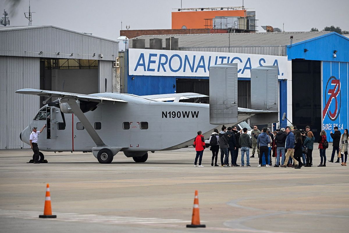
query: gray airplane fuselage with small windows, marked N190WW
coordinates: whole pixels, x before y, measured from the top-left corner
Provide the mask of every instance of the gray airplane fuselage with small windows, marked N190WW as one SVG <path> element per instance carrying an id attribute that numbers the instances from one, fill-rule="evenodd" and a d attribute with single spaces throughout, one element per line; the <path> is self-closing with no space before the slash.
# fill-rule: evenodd
<path id="1" fill-rule="evenodd" d="M 209 135 L 218 125 L 209 123 L 209 104 L 162 102 L 144 99 L 140 96 L 120 93 L 92 94 L 94 96 L 116 97 L 124 102 L 105 101 L 94 111 L 85 113 L 92 126 L 101 123 L 96 129 L 106 145 L 122 147 L 121 151 L 160 151 L 175 150 L 193 144 L 196 132 L 201 130 Z M 62 125 L 60 108 L 45 105 L 40 111 L 47 112 L 46 119 L 34 119 L 21 133 L 21 140 L 29 144 L 32 127 L 41 129 L 38 146 L 42 151 L 82 151 L 90 152 L 96 146 L 75 114 L 64 114 L 65 129 Z M 124 123 L 125 122 L 125 123 Z M 141 129 L 141 124 L 147 129 Z M 128 125 L 129 129 L 124 129 Z M 97 123 L 99 124 L 99 123 Z M 124 125 L 125 124 L 125 125 Z M 78 129 L 80 128 L 80 129 Z"/>

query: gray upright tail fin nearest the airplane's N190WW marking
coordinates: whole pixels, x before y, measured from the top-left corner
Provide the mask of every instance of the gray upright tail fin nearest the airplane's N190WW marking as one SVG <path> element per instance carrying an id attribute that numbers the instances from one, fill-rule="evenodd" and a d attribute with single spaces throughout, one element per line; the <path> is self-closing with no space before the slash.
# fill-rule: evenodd
<path id="1" fill-rule="evenodd" d="M 238 66 L 220 64 L 210 66 L 210 124 L 238 122 Z"/>

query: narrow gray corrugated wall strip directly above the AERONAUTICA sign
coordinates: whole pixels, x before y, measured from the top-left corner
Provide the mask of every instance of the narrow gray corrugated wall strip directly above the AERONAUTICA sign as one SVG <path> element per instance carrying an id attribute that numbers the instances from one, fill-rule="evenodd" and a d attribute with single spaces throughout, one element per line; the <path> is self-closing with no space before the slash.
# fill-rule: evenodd
<path id="1" fill-rule="evenodd" d="M 286 56 L 286 46 L 231 46 L 229 47 L 180 47 L 181 51 L 231 52 Z"/>

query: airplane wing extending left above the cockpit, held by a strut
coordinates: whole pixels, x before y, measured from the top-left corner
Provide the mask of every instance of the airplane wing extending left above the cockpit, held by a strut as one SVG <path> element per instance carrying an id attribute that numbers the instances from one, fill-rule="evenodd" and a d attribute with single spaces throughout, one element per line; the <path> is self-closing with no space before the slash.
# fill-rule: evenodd
<path id="1" fill-rule="evenodd" d="M 31 88 L 16 90 L 16 93 L 26 94 L 26 95 L 57 97 L 62 99 L 73 98 L 75 100 L 84 100 L 84 101 L 93 101 L 93 102 L 103 102 L 103 100 L 127 102 L 125 100 L 119 100 L 111 97 L 92 96 L 92 95 L 84 95 L 84 94 L 76 94 L 76 93 L 68 93 L 68 92 L 55 92 L 53 90 L 38 90 L 38 89 L 31 89 Z"/>

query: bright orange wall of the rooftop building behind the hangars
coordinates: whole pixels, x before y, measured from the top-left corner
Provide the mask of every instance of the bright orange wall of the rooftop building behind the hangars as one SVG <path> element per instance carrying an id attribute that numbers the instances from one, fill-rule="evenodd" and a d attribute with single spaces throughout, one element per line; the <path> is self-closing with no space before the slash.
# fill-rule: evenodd
<path id="1" fill-rule="evenodd" d="M 216 16 L 246 17 L 246 10 L 205 10 L 172 12 L 172 29 L 207 28 L 205 19 L 214 19 Z"/>

